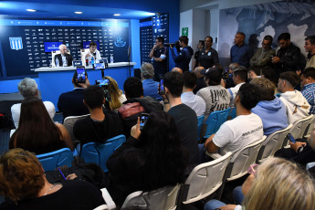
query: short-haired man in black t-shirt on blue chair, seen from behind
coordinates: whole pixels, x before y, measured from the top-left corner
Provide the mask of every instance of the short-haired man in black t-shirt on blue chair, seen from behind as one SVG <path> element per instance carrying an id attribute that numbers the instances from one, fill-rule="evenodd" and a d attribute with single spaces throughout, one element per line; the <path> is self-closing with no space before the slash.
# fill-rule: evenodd
<path id="1" fill-rule="evenodd" d="M 103 109 L 104 91 L 99 86 L 89 86 L 84 91 L 83 103 L 89 109 L 89 116 L 76 121 L 73 134 L 81 146 L 88 142 L 106 142 L 123 133 L 120 116 L 113 110 Z"/>

